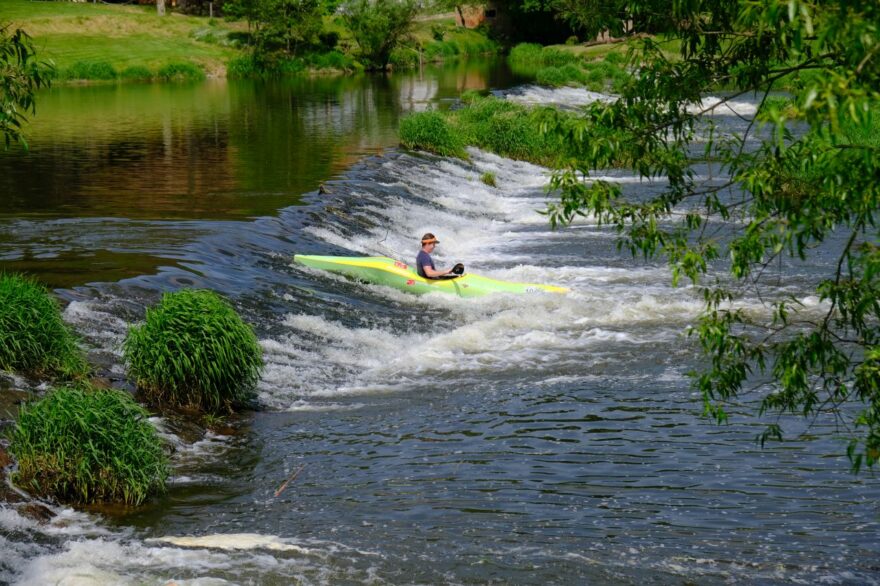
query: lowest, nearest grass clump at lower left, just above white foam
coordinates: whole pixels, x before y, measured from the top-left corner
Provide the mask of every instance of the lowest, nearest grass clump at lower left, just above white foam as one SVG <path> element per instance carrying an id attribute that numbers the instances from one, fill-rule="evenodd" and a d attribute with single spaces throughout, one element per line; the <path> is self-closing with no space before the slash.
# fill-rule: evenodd
<path id="1" fill-rule="evenodd" d="M 18 460 L 13 482 L 63 502 L 141 504 L 168 477 L 148 416 L 114 389 L 59 388 L 26 403 L 9 445 Z"/>

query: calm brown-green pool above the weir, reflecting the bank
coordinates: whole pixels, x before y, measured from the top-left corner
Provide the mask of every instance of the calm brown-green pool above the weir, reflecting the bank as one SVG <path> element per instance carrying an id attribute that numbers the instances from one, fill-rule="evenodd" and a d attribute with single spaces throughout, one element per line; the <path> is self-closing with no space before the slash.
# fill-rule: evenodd
<path id="1" fill-rule="evenodd" d="M 0 268 L 53 286 L 149 274 L 188 240 L 169 236 L 179 222 L 208 222 L 187 228 L 204 233 L 225 230 L 209 221 L 274 215 L 395 145 L 403 113 L 516 81 L 503 63 L 480 61 L 386 76 L 43 92 L 27 128 L 31 150 L 0 153 Z M 24 218 L 33 225 L 23 229 Z M 140 224 L 129 232 L 113 218 Z M 46 223 L 60 219 L 58 236 Z M 102 248 L 111 233 L 112 248 Z"/>

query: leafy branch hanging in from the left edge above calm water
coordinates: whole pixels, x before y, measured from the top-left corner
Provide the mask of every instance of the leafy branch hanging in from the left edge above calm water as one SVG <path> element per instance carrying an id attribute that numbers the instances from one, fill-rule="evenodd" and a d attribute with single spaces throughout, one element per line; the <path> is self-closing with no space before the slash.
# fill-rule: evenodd
<path id="1" fill-rule="evenodd" d="M 0 25 L 0 134 L 6 148 L 13 142 L 27 147 L 22 124 L 36 113 L 34 95 L 49 85 L 50 67 L 36 61 L 30 37 Z"/>

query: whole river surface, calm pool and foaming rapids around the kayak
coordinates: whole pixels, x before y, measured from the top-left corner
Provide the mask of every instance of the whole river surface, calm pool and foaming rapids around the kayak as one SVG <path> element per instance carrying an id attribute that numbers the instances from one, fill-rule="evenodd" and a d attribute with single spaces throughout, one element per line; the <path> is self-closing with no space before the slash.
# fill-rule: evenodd
<path id="1" fill-rule="evenodd" d="M 880 490 L 849 473 L 833 422 L 761 449 L 758 397 L 729 425 L 699 417 L 682 335 L 694 291 L 618 254 L 589 219 L 550 231 L 541 168 L 389 148 L 401 112 L 517 83 L 481 64 L 41 101 L 31 153 L 0 156 L 0 267 L 62 287 L 65 317 L 120 387 L 119 342 L 146 305 L 184 286 L 220 291 L 261 339 L 264 410 L 216 433 L 157 418 L 174 473 L 142 509 L 57 508 L 41 526 L 0 505 L 0 581 L 880 581 Z M 636 195 L 658 188 L 615 175 Z M 300 252 L 408 260 L 426 231 L 444 264 L 572 293 L 416 298 L 290 264 Z M 806 283 L 825 260 L 789 270 L 775 294 L 820 315 Z"/>

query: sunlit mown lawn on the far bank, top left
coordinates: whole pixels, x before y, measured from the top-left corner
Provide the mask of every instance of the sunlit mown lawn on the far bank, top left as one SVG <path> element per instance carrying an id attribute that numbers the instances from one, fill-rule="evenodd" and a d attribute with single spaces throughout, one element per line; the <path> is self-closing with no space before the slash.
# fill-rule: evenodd
<path id="1" fill-rule="evenodd" d="M 106 62 L 117 71 L 189 62 L 218 76 L 239 50 L 216 39 L 246 26 L 176 13 L 159 17 L 154 6 L 32 0 L 0 1 L 0 22 L 24 29 L 40 58 L 59 71 L 78 62 Z"/>

